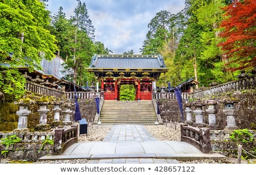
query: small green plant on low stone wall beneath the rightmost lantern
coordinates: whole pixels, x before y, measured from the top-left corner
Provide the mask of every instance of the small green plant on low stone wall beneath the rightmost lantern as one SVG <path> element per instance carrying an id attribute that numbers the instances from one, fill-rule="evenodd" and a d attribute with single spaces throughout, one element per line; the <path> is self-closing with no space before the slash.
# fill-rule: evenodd
<path id="1" fill-rule="evenodd" d="M 234 142 L 247 143 L 253 141 L 253 134 L 248 129 L 234 130 L 229 137 Z"/>

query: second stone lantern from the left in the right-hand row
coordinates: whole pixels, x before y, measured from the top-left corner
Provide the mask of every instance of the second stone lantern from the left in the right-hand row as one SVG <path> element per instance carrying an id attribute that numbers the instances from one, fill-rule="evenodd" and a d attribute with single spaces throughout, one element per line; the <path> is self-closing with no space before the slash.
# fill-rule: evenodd
<path id="1" fill-rule="evenodd" d="M 204 111 L 203 106 L 204 104 L 200 101 L 199 98 L 193 103 L 193 106 L 195 106 L 195 110 L 193 110 L 193 114 L 195 114 L 196 122 L 193 123 L 192 126 L 195 127 L 205 127 L 206 124 L 204 123 Z"/>

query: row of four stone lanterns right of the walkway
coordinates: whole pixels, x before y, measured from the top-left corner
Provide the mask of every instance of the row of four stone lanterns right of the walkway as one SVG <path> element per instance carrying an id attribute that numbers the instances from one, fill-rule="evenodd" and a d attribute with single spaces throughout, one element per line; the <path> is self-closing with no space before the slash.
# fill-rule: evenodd
<path id="1" fill-rule="evenodd" d="M 225 109 L 223 109 L 223 112 L 226 114 L 226 118 L 227 118 L 227 126 L 225 127 L 225 129 L 238 129 L 238 127 L 236 126 L 236 121 L 234 118 L 234 101 L 230 100 L 230 99 L 226 99 L 226 100 L 222 100 L 220 101 L 220 103 L 224 103 L 225 104 Z M 209 129 L 217 129 L 218 125 L 216 124 L 216 113 L 217 113 L 217 109 L 216 109 L 216 105 L 217 101 L 213 100 L 213 99 L 209 99 L 207 101 L 205 101 L 204 103 L 200 101 L 200 99 L 197 99 L 195 102 L 193 103 L 188 103 L 188 101 L 186 101 L 185 103 L 185 112 L 187 114 L 187 118 L 185 123 L 187 123 L 188 125 L 192 125 L 192 126 L 196 126 L 196 127 L 206 127 L 208 126 Z M 204 110 L 203 110 L 203 106 L 206 105 L 207 109 L 205 109 L 205 112 L 208 113 L 208 121 L 209 123 L 204 123 Z M 194 110 L 192 110 L 192 106 L 195 107 Z M 192 121 L 192 112 L 195 115 L 195 122 Z"/>

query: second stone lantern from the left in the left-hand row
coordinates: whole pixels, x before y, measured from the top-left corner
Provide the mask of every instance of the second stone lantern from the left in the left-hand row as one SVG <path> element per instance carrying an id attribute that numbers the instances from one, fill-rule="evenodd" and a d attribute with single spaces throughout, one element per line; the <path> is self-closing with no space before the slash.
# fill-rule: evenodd
<path id="1" fill-rule="evenodd" d="M 47 113 L 49 112 L 49 109 L 47 109 L 48 102 L 38 103 L 39 109 L 39 125 L 35 126 L 35 130 L 49 130 L 51 129 L 51 126 L 47 124 Z"/>

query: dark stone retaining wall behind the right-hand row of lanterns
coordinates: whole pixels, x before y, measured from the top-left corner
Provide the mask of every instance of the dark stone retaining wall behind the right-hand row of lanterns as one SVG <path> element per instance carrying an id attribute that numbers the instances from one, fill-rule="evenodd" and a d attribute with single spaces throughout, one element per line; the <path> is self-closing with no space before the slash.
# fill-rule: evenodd
<path id="1" fill-rule="evenodd" d="M 245 93 L 237 93 L 233 95 L 228 96 L 222 96 L 222 97 L 213 97 L 214 100 L 217 101 L 216 104 L 216 123 L 219 126 L 219 129 L 224 129 L 227 125 L 226 123 L 226 115 L 223 112 L 225 109 L 225 104 L 222 103 L 222 101 L 225 101 L 225 99 L 232 99 L 233 101 L 236 101 L 234 103 L 234 109 L 235 109 L 235 118 L 236 118 L 236 125 L 240 129 L 256 129 L 256 92 L 245 92 Z M 207 99 L 200 99 L 202 103 L 206 101 Z M 159 108 L 160 108 L 160 115 L 163 119 L 163 121 L 172 121 L 172 122 L 181 122 L 181 112 L 179 109 L 179 105 L 177 103 L 176 99 L 171 100 L 159 100 Z M 183 100 L 183 111 L 185 109 L 185 100 Z M 195 107 L 192 106 L 192 110 L 194 110 Z M 205 109 L 207 109 L 207 106 L 203 106 L 204 110 L 204 123 L 209 123 L 208 121 L 208 114 L 205 112 Z M 184 113 L 184 120 L 186 119 L 186 113 Z M 192 116 L 193 112 L 192 112 Z M 193 121 L 195 122 L 195 117 L 192 117 Z"/>

